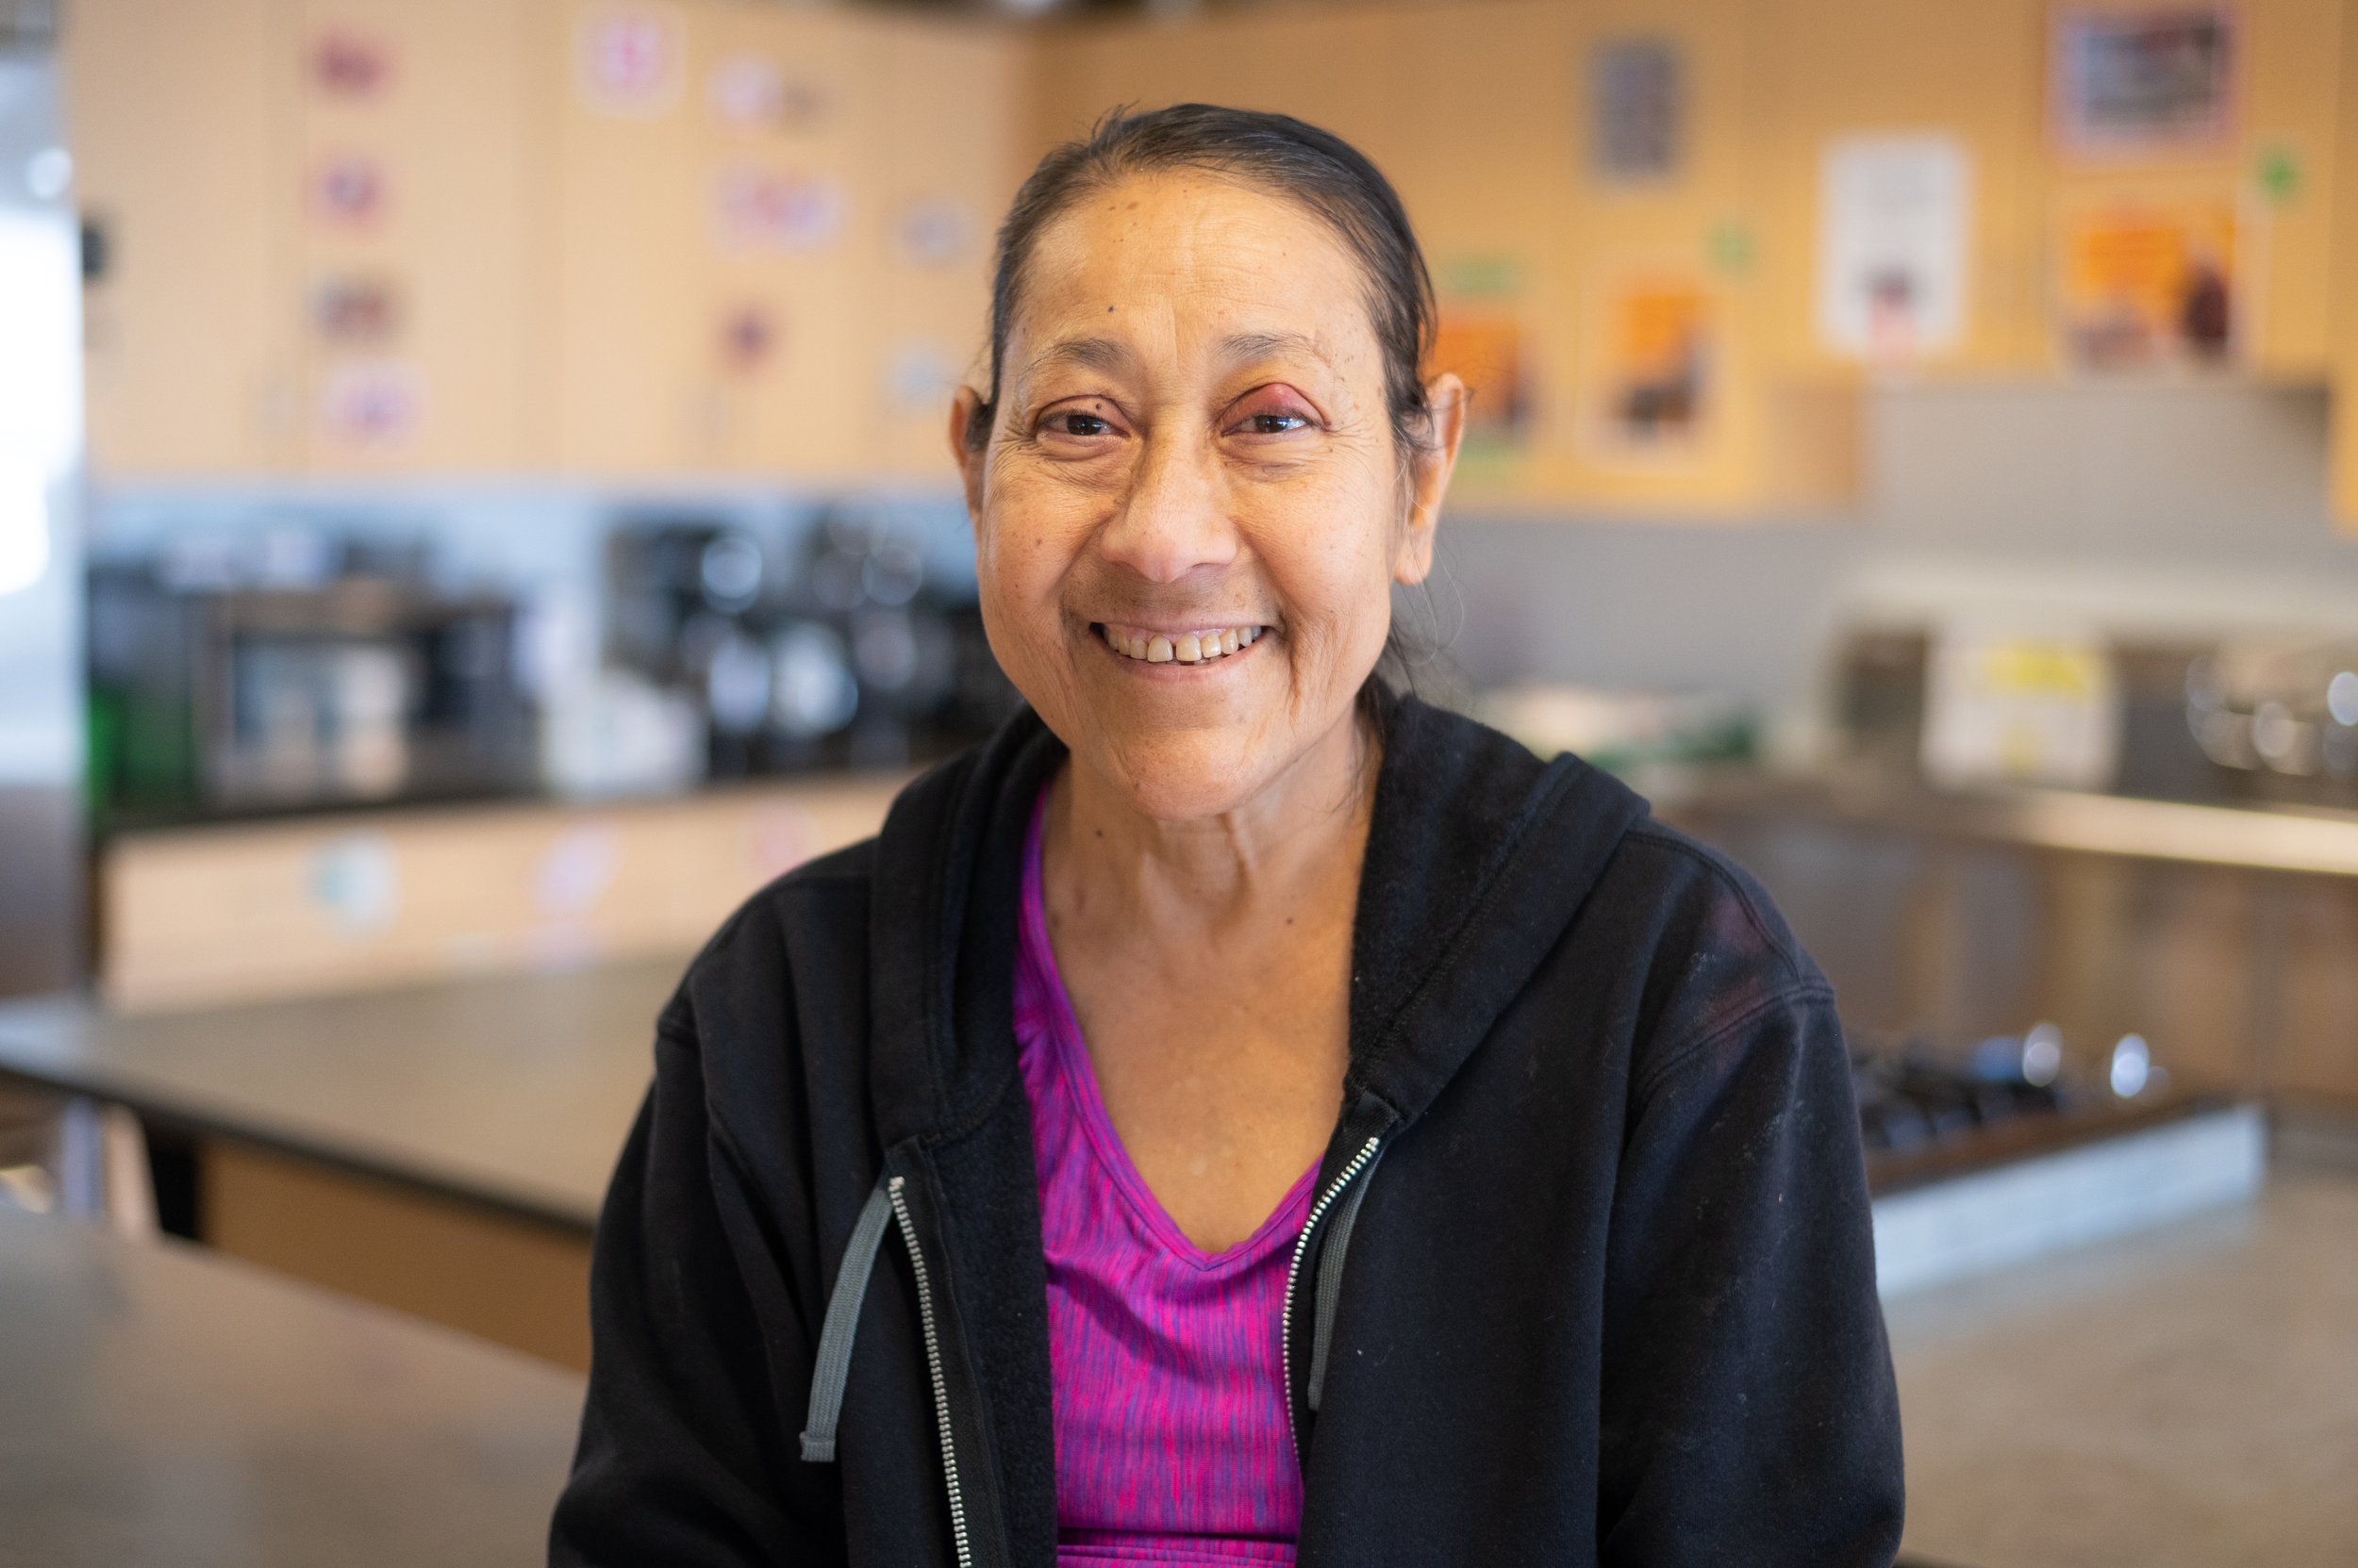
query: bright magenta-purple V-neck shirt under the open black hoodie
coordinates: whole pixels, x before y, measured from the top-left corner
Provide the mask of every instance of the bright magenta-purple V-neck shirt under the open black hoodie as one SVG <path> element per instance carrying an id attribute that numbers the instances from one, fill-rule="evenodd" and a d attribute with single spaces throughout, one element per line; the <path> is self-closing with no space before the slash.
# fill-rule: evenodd
<path id="1" fill-rule="evenodd" d="M 1210 1254 L 1162 1212 L 1096 1094 L 1023 844 L 1016 1045 L 1040 1160 L 1056 1410 L 1056 1561 L 1292 1563 L 1302 1474 L 1280 1318 L 1316 1167 L 1259 1231 Z"/>

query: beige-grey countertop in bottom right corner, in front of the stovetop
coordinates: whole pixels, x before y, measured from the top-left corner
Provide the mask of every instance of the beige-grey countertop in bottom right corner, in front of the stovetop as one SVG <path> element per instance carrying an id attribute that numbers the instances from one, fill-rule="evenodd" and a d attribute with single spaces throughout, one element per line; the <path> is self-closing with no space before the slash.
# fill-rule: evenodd
<path id="1" fill-rule="evenodd" d="M 2358 1563 L 2358 1177 L 1901 1299 L 1908 1554 Z"/>

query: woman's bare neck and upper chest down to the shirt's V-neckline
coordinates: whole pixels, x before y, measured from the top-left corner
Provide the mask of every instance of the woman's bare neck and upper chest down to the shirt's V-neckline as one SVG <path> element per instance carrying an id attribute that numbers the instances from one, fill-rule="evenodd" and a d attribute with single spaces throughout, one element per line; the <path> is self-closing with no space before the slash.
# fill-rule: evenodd
<path id="1" fill-rule="evenodd" d="M 1205 1252 L 1252 1236 L 1335 1129 L 1375 769 L 1353 714 L 1214 818 L 1144 816 L 1085 764 L 1049 792 L 1047 929 L 1096 1089 Z"/>

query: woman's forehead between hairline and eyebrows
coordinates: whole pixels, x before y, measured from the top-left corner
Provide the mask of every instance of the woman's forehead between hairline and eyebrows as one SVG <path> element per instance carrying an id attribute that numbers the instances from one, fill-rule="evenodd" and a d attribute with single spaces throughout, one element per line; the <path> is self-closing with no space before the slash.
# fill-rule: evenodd
<path id="1" fill-rule="evenodd" d="M 1299 347 L 1335 375 L 1382 377 L 1368 276 L 1299 200 L 1198 172 L 1132 174 L 1052 219 L 1007 335 L 1016 384 L 1106 344 L 1181 368 L 1240 347 Z"/>

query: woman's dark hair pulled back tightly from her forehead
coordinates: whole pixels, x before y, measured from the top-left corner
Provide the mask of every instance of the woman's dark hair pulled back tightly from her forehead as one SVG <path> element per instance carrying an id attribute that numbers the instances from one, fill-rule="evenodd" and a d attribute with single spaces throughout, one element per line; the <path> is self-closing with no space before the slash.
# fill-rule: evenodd
<path id="1" fill-rule="evenodd" d="M 1007 332 L 1040 231 L 1129 174 L 1200 170 L 1302 203 L 1325 219 L 1368 274 L 1368 316 L 1384 354 L 1384 401 L 1401 455 L 1431 448 L 1422 365 L 1434 347 L 1434 281 L 1391 182 L 1368 156 L 1292 116 L 1217 104 L 1113 111 L 1080 141 L 1047 153 L 1000 224 L 990 283 L 990 384 L 967 424 L 983 446 L 1000 406 Z"/>

